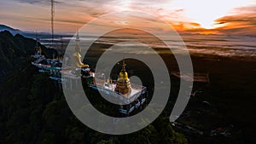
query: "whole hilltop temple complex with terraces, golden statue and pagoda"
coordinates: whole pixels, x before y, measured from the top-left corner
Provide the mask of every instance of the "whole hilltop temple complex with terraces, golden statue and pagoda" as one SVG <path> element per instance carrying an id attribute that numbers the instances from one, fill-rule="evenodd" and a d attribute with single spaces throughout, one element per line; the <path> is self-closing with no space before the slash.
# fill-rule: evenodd
<path id="1" fill-rule="evenodd" d="M 68 90 L 78 90 L 78 84 L 82 80 L 85 90 L 96 89 L 106 95 L 109 100 L 113 98 L 113 101 L 117 101 L 118 107 L 116 108 L 120 114 L 129 116 L 134 111 L 141 111 L 143 104 L 147 103 L 148 90 L 143 85 L 131 83 L 125 70 L 125 60 L 123 60 L 118 79 L 106 79 L 104 73 L 91 71 L 90 67 L 82 62 L 79 34 L 77 34 L 75 42 L 75 51 L 73 55 L 70 55 L 72 66 L 61 67 L 59 64 L 62 63 L 62 60 L 46 59 L 44 55 L 41 55 L 41 49 L 32 55 L 36 59 L 32 61 L 32 65 L 37 66 L 39 72 L 47 72 L 49 78 L 55 80 L 60 89 L 62 87 Z"/>

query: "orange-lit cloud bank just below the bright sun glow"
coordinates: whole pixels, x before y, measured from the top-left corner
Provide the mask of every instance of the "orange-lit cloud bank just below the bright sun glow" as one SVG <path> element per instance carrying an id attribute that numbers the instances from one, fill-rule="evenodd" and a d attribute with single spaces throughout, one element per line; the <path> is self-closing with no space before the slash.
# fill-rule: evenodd
<path id="1" fill-rule="evenodd" d="M 180 22 L 173 27 L 180 33 L 255 35 L 256 5 L 233 9 L 232 14 L 215 20 L 215 26 L 216 28 L 206 29 L 198 23 Z"/>

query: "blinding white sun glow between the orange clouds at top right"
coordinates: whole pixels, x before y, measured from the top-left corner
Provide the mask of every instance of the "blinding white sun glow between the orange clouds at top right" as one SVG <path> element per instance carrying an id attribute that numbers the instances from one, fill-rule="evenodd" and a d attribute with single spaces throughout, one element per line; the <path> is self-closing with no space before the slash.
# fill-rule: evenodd
<path id="1" fill-rule="evenodd" d="M 177 6 L 184 9 L 185 16 L 202 28 L 214 29 L 223 25 L 216 25 L 215 20 L 229 14 L 232 9 L 253 2 L 252 0 L 174 0 Z"/>

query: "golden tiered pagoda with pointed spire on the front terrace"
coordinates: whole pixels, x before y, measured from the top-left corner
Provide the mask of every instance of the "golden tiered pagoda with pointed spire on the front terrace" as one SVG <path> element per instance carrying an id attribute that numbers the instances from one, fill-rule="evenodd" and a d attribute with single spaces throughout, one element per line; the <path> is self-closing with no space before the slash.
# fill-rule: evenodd
<path id="1" fill-rule="evenodd" d="M 125 71 L 125 60 L 123 60 L 123 68 L 121 72 L 119 72 L 118 82 L 114 91 L 122 95 L 131 94 L 131 83 L 128 77 L 128 73 Z"/>

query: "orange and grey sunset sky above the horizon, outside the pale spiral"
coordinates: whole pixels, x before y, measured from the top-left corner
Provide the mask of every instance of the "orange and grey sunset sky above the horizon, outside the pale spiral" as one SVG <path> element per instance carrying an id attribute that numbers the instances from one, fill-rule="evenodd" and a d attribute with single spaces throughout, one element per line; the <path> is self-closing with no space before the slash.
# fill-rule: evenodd
<path id="1" fill-rule="evenodd" d="M 256 0 L 55 0 L 55 32 L 75 32 L 102 14 L 153 14 L 178 32 L 256 34 Z M 1 0 L 0 24 L 50 32 L 50 0 Z"/>

